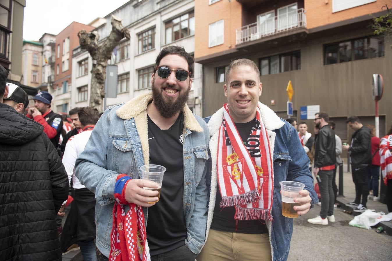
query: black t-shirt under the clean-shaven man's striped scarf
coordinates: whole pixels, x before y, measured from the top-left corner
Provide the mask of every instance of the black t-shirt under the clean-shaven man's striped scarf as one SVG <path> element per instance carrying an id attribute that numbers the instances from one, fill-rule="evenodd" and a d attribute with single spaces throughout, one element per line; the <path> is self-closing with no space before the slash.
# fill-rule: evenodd
<path id="1" fill-rule="evenodd" d="M 255 126 L 256 118 L 246 123 L 236 123 L 236 128 L 241 136 L 243 142 L 246 142 L 250 135 L 250 130 Z M 216 187 L 216 199 L 214 208 L 214 218 L 212 219 L 211 229 L 237 232 L 244 234 L 265 234 L 268 233 L 267 225 L 264 220 L 238 220 L 236 229 L 236 220 L 234 214 L 236 213 L 235 207 L 219 206 L 222 196 L 219 187 Z"/>

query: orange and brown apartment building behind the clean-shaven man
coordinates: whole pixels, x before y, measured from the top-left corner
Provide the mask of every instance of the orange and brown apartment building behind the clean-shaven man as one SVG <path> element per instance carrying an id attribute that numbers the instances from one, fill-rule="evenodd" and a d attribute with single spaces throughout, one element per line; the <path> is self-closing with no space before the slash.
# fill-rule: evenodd
<path id="1" fill-rule="evenodd" d="M 261 102 L 287 118 L 291 80 L 294 116 L 313 126 L 313 115 L 306 116 L 303 108 L 319 105 L 336 122 L 343 141 L 352 133 L 347 116 L 374 124 L 372 74 L 383 75 L 379 113 L 384 135 L 392 123 L 392 49 L 387 39 L 373 35 L 369 23 L 373 16 L 386 14 L 386 4 L 390 1 L 196 1 L 195 58 L 203 64 L 203 116 L 227 101 L 225 67 L 247 58 L 260 69 Z"/>

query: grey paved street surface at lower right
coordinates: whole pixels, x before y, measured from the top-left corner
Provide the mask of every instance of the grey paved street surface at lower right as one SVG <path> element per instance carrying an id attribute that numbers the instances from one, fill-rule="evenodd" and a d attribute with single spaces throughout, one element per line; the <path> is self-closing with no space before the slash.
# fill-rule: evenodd
<path id="1" fill-rule="evenodd" d="M 344 170 L 347 170 L 345 165 Z M 338 176 L 336 183 L 338 185 Z M 339 186 L 339 185 L 338 185 Z M 347 201 L 355 197 L 355 188 L 351 173 L 344 173 L 344 195 Z M 368 201 L 369 209 L 387 213 L 387 205 Z M 312 225 L 308 218 L 319 215 L 319 206 L 315 206 L 302 217 L 294 219 L 294 231 L 291 240 L 289 261 L 307 260 L 391 260 L 392 236 L 376 233 L 376 229 L 361 229 L 348 225 L 354 217 L 335 209 L 336 223 Z"/>

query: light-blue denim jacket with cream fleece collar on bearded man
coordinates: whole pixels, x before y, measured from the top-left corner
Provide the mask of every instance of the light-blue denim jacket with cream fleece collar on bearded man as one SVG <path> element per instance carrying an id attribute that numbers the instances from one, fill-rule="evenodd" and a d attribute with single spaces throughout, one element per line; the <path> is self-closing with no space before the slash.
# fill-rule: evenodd
<path id="1" fill-rule="evenodd" d="M 119 173 L 126 173 L 132 179 L 139 179 L 140 167 L 149 164 L 146 109 L 151 100 L 151 93 L 148 93 L 126 104 L 109 107 L 76 160 L 76 177 L 95 193 L 96 245 L 107 257 L 110 252 L 116 177 Z M 183 113 L 185 245 L 198 254 L 205 241 L 207 223 L 205 166 L 209 134 L 207 124 L 192 114 L 186 105 Z M 147 210 L 143 207 L 146 223 Z"/>

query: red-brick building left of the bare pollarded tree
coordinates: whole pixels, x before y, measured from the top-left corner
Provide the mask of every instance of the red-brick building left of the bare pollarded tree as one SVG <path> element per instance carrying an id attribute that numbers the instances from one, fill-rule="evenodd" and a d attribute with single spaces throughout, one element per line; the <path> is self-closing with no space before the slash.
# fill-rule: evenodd
<path id="1" fill-rule="evenodd" d="M 52 109 L 54 112 L 68 112 L 70 109 L 73 49 L 79 45 L 78 32 L 80 30 L 89 32 L 93 29 L 94 27 L 91 25 L 72 22 L 55 37 L 54 81 L 52 88 L 49 88 L 49 93 L 53 96 Z"/>

